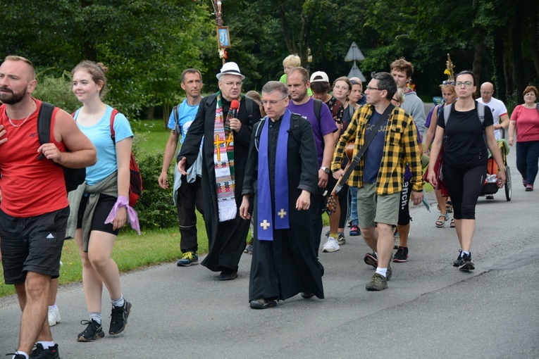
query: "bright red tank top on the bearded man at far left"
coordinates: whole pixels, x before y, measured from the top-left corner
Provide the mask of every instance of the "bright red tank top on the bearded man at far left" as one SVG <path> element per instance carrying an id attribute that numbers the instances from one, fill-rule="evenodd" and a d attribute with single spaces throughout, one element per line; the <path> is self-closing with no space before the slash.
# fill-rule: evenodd
<path id="1" fill-rule="evenodd" d="M 20 127 L 14 127 L 8 119 L 6 105 L 0 106 L 0 125 L 4 125 L 8 141 L 0 144 L 1 210 L 17 218 L 33 217 L 66 208 L 68 197 L 63 169 L 53 161 L 37 159 L 39 138 L 37 114 L 41 101 L 34 99 L 37 111 Z M 63 143 L 54 139 L 54 122 L 58 108 L 54 108 L 51 120 L 51 143 L 60 151 L 66 151 Z"/>

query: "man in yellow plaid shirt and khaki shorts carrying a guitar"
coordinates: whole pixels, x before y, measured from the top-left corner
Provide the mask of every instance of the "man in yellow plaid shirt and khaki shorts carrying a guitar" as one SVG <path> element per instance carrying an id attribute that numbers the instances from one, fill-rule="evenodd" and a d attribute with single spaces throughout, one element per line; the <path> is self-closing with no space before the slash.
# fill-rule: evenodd
<path id="1" fill-rule="evenodd" d="M 356 156 L 397 92 L 397 84 L 389 73 L 371 76 L 365 91 L 367 104 L 355 113 L 335 149 L 331 165 L 335 178 L 343 173 L 340 163 L 347 143 L 354 140 Z M 373 250 L 364 258 L 365 263 L 376 268 L 376 273 L 366 284 L 369 291 L 388 288 L 388 279 L 392 275 L 393 227 L 399 219 L 400 191 L 407 163 L 412 175 L 411 200 L 418 205 L 423 200 L 423 179 L 416 126 L 410 115 L 395 107 L 383 120 L 347 182 L 350 187 L 358 187 L 359 228 L 366 244 Z"/>

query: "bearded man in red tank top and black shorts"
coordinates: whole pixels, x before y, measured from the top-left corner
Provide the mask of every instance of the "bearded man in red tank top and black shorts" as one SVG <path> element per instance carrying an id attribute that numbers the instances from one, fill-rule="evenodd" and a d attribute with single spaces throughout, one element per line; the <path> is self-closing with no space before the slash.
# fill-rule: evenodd
<path id="1" fill-rule="evenodd" d="M 47 320 L 49 284 L 60 272 L 69 216 L 59 165 L 84 168 L 97 160 L 92 142 L 59 108 L 52 114 L 50 141 L 40 144 L 36 84 L 26 58 L 8 56 L 0 65 L 0 260 L 23 310 L 16 359 L 27 359 L 34 345 L 32 356 L 49 351 L 47 358 L 60 358 Z"/>

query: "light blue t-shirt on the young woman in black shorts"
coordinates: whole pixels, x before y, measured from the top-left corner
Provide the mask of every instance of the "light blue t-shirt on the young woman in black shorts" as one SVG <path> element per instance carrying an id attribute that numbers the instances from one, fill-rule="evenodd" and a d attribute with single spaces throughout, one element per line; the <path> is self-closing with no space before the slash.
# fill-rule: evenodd
<path id="1" fill-rule="evenodd" d="M 104 180 L 111 175 L 112 172 L 118 170 L 118 163 L 116 162 L 116 146 L 111 138 L 111 114 L 113 108 L 109 105 L 106 106 L 105 114 L 103 118 L 93 126 L 81 126 L 78 127 L 86 137 L 92 141 L 97 149 L 97 163 L 93 166 L 86 168 L 86 183 L 89 186 L 93 186 Z M 77 120 L 80 108 L 75 112 L 75 120 Z M 116 142 L 122 141 L 128 137 L 133 137 L 133 132 L 129 121 L 125 118 L 125 115 L 117 113 L 114 118 L 114 132 L 116 136 Z"/>

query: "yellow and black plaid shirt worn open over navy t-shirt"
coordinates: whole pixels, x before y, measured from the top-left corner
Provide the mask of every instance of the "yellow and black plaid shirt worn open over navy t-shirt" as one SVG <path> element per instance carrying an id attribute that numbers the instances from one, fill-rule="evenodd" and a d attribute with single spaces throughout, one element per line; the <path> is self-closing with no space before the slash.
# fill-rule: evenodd
<path id="1" fill-rule="evenodd" d="M 365 141 L 365 129 L 373 113 L 372 105 L 364 105 L 356 111 L 347 130 L 340 137 L 331 170 L 339 170 L 342 158 L 345 156 L 346 145 L 354 139 L 354 152 L 356 156 Z M 402 190 L 404 180 L 404 166 L 409 164 L 413 191 L 423 191 L 423 178 L 421 176 L 421 151 L 417 142 L 417 130 L 411 115 L 402 108 L 395 107 L 390 113 L 388 125 L 385 127 L 385 141 L 382 162 L 376 179 L 376 194 L 395 194 Z M 354 169 L 348 179 L 349 186 L 363 187 L 364 159 Z"/>

